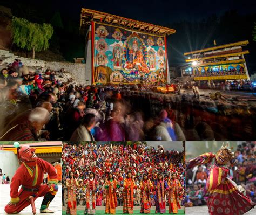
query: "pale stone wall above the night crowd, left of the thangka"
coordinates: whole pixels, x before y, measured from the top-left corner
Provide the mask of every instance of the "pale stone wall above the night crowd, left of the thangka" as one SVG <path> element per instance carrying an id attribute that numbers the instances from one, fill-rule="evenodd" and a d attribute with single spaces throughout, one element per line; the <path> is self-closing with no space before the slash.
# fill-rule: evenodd
<path id="1" fill-rule="evenodd" d="M 5 63 L 12 63 L 15 59 L 21 59 L 22 63 L 28 67 L 43 67 L 51 70 L 60 70 L 64 68 L 66 72 L 69 72 L 72 77 L 78 82 L 78 84 L 91 84 L 91 72 L 85 70 L 86 64 L 70 63 L 70 62 L 51 62 L 44 60 L 37 60 L 31 58 L 23 58 L 15 56 L 14 54 L 0 50 L 0 59 L 3 59 Z"/>

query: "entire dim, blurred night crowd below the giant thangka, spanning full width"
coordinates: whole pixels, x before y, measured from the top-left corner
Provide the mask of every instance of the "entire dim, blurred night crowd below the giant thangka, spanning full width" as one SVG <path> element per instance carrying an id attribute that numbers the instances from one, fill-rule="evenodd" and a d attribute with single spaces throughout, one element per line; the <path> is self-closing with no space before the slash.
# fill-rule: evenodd
<path id="1" fill-rule="evenodd" d="M 255 102 L 227 100 L 220 94 L 208 98 L 164 95 L 141 91 L 137 85 L 77 85 L 63 78 L 65 74 L 63 69 L 28 68 L 20 60 L 5 65 L 0 74 L 0 140 L 255 138 Z"/>

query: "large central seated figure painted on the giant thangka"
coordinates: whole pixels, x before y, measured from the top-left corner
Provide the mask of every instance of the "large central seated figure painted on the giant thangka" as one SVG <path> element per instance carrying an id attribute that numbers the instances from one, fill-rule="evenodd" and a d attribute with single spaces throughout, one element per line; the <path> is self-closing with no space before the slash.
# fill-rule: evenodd
<path id="1" fill-rule="evenodd" d="M 150 70 L 145 63 L 145 53 L 143 52 L 142 41 L 136 38 L 137 37 L 132 37 L 127 41 L 127 46 L 129 48 L 126 50 L 127 62 L 125 68 L 127 70 L 138 70 L 143 73 L 149 73 Z M 133 41 L 131 39 L 133 39 Z M 131 41 L 132 45 L 130 44 Z"/>

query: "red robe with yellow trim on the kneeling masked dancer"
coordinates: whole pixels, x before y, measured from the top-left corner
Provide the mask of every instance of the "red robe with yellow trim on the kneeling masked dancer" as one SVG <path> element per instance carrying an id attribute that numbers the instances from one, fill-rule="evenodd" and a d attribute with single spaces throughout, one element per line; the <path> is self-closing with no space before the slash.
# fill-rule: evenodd
<path id="1" fill-rule="evenodd" d="M 33 196 L 36 200 L 37 197 L 45 196 L 49 192 L 52 195 L 56 195 L 57 188 L 54 186 L 49 187 L 47 184 L 41 185 L 43 183 L 44 172 L 47 172 L 50 177 L 48 184 L 58 182 L 58 176 L 55 172 L 55 168 L 41 158 L 36 159 L 35 167 L 29 167 L 25 162 L 21 164 L 15 172 L 14 177 L 12 177 L 10 185 L 11 202 L 17 202 L 17 204 L 16 206 L 15 204 L 6 205 L 4 209 L 6 213 L 21 212 L 25 207 L 30 205 L 30 201 L 27 200 L 29 196 Z M 22 185 L 22 188 L 18 191 L 20 185 Z M 37 190 L 28 191 L 23 187 Z"/>

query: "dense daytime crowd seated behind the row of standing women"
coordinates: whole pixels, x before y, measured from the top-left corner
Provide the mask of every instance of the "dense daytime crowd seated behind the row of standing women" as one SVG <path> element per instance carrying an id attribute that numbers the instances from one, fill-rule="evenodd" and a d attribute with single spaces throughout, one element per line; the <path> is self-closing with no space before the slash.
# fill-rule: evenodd
<path id="1" fill-rule="evenodd" d="M 63 184 L 70 171 L 75 172 L 75 178 L 84 184 L 90 172 L 96 176 L 97 191 L 96 205 L 105 204 L 104 180 L 107 173 L 112 172 L 120 185 L 117 188 L 118 205 L 122 205 L 123 180 L 127 171 L 132 171 L 132 177 L 138 186 L 143 174 L 147 173 L 153 182 L 157 174 L 161 173 L 164 179 L 170 178 L 172 172 L 177 172 L 181 185 L 185 186 L 184 154 L 178 151 L 166 151 L 163 147 L 147 147 L 144 143 L 124 144 L 64 144 L 62 155 Z M 65 187 L 64 187 L 65 190 Z M 155 204 L 154 191 L 151 191 L 151 204 Z M 167 198 L 166 193 L 166 198 Z M 65 198 L 65 197 L 64 197 Z M 85 204 L 85 187 L 77 188 L 77 205 Z M 134 205 L 140 205 L 140 189 L 134 190 Z M 66 202 L 66 201 L 65 201 Z M 64 202 L 63 202 L 64 203 Z"/>

